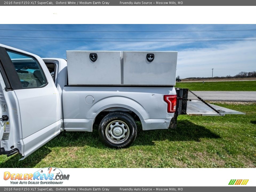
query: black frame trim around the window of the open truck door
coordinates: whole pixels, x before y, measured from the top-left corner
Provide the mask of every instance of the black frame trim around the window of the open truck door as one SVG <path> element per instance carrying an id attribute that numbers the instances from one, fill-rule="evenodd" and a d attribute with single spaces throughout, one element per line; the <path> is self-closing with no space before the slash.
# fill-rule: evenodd
<path id="1" fill-rule="evenodd" d="M 13 88 L 12 85 L 11 85 L 11 89 L 13 89 L 13 90 L 19 90 L 19 89 L 37 89 L 37 88 L 43 88 L 43 87 L 45 87 L 45 86 L 47 86 L 47 85 L 49 84 L 49 82 L 48 82 L 48 80 L 47 80 L 47 78 L 46 78 L 45 72 L 44 72 L 44 70 L 42 69 L 42 66 L 40 65 L 40 62 L 39 62 L 35 57 L 33 57 L 32 55 L 29 55 L 29 54 L 22 53 L 22 52 L 20 52 L 20 51 L 14 51 L 14 50 L 11 50 L 11 49 L 7 49 L 7 48 L 5 48 L 5 47 L 3 47 L 3 48 L 5 49 L 6 54 L 8 55 L 10 61 L 11 61 L 11 58 L 10 58 L 9 54 L 7 53 L 7 51 L 9 51 L 9 52 L 11 52 L 11 53 L 14 53 L 14 54 L 15 54 L 15 53 L 21 54 L 21 55 L 24 55 L 24 56 L 27 56 L 27 57 L 29 57 L 29 58 L 34 59 L 35 62 L 37 62 L 38 67 L 39 67 L 39 69 L 41 70 L 42 75 L 44 76 L 45 81 L 46 81 L 46 83 L 45 83 L 43 86 L 40 86 L 40 87 L 22 87 L 22 84 L 20 83 L 20 84 L 21 84 L 21 87 L 15 87 L 15 88 Z M 19 79 L 19 82 L 20 82 L 20 78 L 19 78 L 18 73 L 17 73 L 17 71 L 16 71 L 16 69 L 15 69 L 15 67 L 14 67 L 14 64 L 13 64 L 12 61 L 11 61 L 11 63 L 12 63 L 12 66 L 13 66 L 15 72 L 16 72 L 15 76 L 17 75 L 17 77 L 18 77 L 18 79 Z M 4 67 L 4 66 L 3 66 L 3 68 L 4 68 L 4 70 L 5 70 L 5 67 Z M 6 70 L 5 70 L 5 71 L 6 71 Z M 7 75 L 7 78 L 9 79 L 9 76 L 8 76 L 7 71 L 6 71 L 6 75 Z M 17 81 L 17 80 L 13 79 L 13 81 Z M 11 84 L 11 83 L 10 83 L 10 84 Z"/>

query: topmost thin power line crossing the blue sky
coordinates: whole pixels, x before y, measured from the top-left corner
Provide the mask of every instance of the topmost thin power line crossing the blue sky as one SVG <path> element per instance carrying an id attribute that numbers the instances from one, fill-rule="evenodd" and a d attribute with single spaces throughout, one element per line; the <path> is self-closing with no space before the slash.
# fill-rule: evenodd
<path id="1" fill-rule="evenodd" d="M 29 29 L 0 29 L 6 31 L 58 31 L 58 32 L 206 32 L 206 31 L 256 31 L 256 29 L 237 29 L 237 30 L 184 30 L 184 31 L 78 31 L 78 30 L 29 30 Z"/>

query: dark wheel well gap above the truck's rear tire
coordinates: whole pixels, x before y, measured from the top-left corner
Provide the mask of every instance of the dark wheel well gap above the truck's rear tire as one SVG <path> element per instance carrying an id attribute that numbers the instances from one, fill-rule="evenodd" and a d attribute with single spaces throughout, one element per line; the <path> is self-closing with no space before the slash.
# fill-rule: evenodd
<path id="1" fill-rule="evenodd" d="M 139 119 L 139 116 L 138 116 L 136 113 L 134 113 L 133 111 L 129 110 L 129 109 L 122 108 L 122 107 L 111 107 L 111 108 L 109 108 L 109 109 L 105 109 L 105 110 L 101 111 L 101 112 L 95 117 L 95 121 L 94 121 L 93 125 L 99 125 L 100 122 L 101 122 L 101 120 L 102 120 L 107 114 L 109 114 L 109 113 L 111 113 L 111 112 L 114 112 L 114 111 L 123 111 L 123 112 L 125 112 L 125 113 L 129 113 L 129 114 L 134 118 L 135 121 L 139 121 L 139 122 L 141 121 L 141 120 Z"/>

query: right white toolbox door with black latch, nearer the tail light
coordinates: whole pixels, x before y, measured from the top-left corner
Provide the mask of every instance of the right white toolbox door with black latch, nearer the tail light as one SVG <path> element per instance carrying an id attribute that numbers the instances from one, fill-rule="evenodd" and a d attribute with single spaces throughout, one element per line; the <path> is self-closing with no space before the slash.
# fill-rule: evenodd
<path id="1" fill-rule="evenodd" d="M 124 85 L 175 85 L 178 52 L 123 51 Z"/>

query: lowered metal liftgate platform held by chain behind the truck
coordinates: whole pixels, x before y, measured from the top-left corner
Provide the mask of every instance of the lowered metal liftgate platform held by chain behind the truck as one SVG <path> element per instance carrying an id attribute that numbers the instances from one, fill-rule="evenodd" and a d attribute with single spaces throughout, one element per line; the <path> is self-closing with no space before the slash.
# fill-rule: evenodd
<path id="1" fill-rule="evenodd" d="M 225 107 L 221 107 L 218 105 L 209 104 L 210 106 L 214 107 L 217 111 L 220 113 L 216 113 L 213 109 L 211 109 L 209 106 L 205 105 L 202 101 L 198 100 L 192 100 L 187 101 L 187 111 L 186 113 L 188 115 L 204 115 L 204 116 L 224 116 L 225 114 L 239 114 L 243 115 L 245 113 L 235 111 L 232 109 L 227 109 Z"/>

